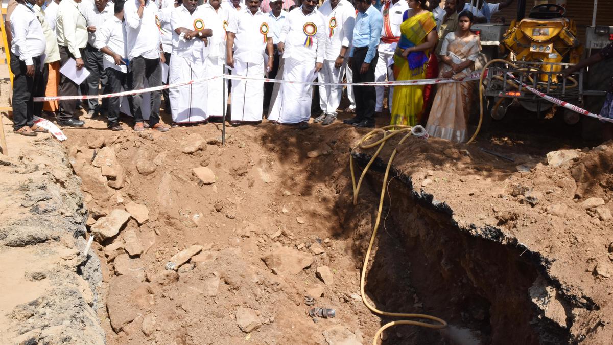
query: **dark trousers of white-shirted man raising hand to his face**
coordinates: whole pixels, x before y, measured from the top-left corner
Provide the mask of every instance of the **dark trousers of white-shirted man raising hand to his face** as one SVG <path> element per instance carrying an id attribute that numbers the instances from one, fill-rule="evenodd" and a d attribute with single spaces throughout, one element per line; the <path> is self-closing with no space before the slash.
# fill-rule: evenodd
<path id="1" fill-rule="evenodd" d="M 130 61 L 129 69 L 132 73 L 132 90 L 140 90 L 145 87 L 145 78 L 149 83 L 149 87 L 158 87 L 162 85 L 162 66 L 159 59 L 146 59 L 142 56 L 136 56 Z M 151 115 L 149 117 L 149 125 L 153 127 L 159 122 L 159 107 L 162 103 L 162 91 L 153 91 L 151 95 Z M 143 122 L 143 95 L 139 93 L 134 95 L 132 115 L 134 122 Z"/>

